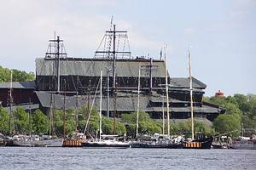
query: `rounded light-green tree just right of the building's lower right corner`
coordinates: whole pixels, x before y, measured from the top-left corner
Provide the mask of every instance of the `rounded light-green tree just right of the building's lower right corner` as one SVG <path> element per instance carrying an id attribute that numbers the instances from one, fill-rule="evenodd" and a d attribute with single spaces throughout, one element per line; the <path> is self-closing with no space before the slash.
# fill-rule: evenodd
<path id="1" fill-rule="evenodd" d="M 219 115 L 213 122 L 213 127 L 218 133 L 232 133 L 233 136 L 238 136 L 241 132 L 241 122 L 233 115 Z"/>

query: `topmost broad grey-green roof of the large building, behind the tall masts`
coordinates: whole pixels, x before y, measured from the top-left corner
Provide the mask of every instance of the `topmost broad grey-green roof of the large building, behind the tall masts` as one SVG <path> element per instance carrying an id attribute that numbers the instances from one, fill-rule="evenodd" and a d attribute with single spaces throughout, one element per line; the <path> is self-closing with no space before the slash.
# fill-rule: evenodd
<path id="1" fill-rule="evenodd" d="M 55 73 L 54 59 L 36 59 L 37 76 L 52 76 Z M 112 59 L 61 59 L 61 76 L 86 76 L 100 77 L 100 71 L 107 77 L 108 69 L 112 69 Z M 116 72 L 118 77 L 138 77 L 139 65 L 150 65 L 150 59 L 117 59 Z M 166 77 L 165 62 L 163 60 L 153 60 L 153 65 L 157 69 L 152 71 L 152 77 Z M 110 75 L 112 77 L 112 74 Z M 146 69 L 141 70 L 141 77 L 148 77 Z"/>

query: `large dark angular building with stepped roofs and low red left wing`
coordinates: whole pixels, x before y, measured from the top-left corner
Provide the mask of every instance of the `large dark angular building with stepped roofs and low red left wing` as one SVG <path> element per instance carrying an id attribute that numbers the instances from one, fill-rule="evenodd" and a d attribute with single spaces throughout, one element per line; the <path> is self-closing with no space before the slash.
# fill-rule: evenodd
<path id="1" fill-rule="evenodd" d="M 26 110 L 40 108 L 46 112 L 50 108 L 63 109 L 63 95 L 66 94 L 65 108 L 77 109 L 82 105 L 90 107 L 96 94 L 93 107 L 99 110 L 99 90 L 96 92 L 96 89 L 99 88 L 100 71 L 103 71 L 102 113 L 106 116 L 108 113 L 109 116 L 113 116 L 116 111 L 116 116 L 119 117 L 123 113 L 137 111 L 140 68 L 139 110 L 148 112 L 154 119 L 162 117 L 163 108 L 166 111 L 166 64 L 164 60 L 138 57 L 113 60 L 113 55 L 90 59 L 67 58 L 67 54 L 60 50 L 62 40 L 59 37 L 50 42 L 57 42 L 57 44 L 49 44 L 50 50 L 45 57 L 36 59 L 35 82 L 13 82 L 11 97 L 9 96 L 10 83 L 0 83 L 0 102 L 3 107 L 9 110 L 10 106 L 23 106 Z M 51 47 L 59 48 L 52 50 Z M 189 118 L 189 78 L 170 78 L 167 71 L 167 84 L 171 107 L 170 118 L 172 120 Z M 193 77 L 194 116 L 212 122 L 219 114 L 224 113 L 224 109 L 202 101 L 206 88 L 206 84 Z"/>

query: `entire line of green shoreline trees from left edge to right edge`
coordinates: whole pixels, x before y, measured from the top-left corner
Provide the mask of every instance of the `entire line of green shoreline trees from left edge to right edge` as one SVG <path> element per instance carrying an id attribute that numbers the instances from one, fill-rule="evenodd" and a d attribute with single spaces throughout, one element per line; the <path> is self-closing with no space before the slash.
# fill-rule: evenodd
<path id="1" fill-rule="evenodd" d="M 213 122 L 213 125 L 207 125 L 204 122 L 195 121 L 195 136 L 217 135 L 221 133 L 231 133 L 231 135 L 241 135 L 241 125 L 244 128 L 256 128 L 256 95 L 235 94 L 226 98 L 211 97 L 204 98 L 204 101 L 220 105 L 226 110 L 226 113 L 219 115 Z M 53 110 L 54 133 L 57 136 L 63 134 L 63 111 Z M 82 107 L 79 111 L 73 109 L 66 111 L 65 114 L 65 131 L 67 135 L 79 132 L 84 133 L 84 126 L 89 117 L 87 107 Z M 43 113 L 40 110 L 32 114 L 27 113 L 24 109 L 17 108 L 13 111 L 14 123 L 9 127 L 9 113 L 0 107 L 0 133 L 8 135 L 9 132 L 22 134 L 49 134 L 49 113 Z M 78 122 L 76 116 L 78 115 Z M 88 125 L 88 133 L 95 136 L 99 133 L 99 114 L 98 111 L 92 110 Z M 122 114 L 116 122 L 116 134 L 135 136 L 136 133 L 137 113 Z M 186 122 L 171 122 L 171 134 L 190 137 L 191 120 Z M 11 128 L 11 129 L 10 129 Z M 163 125 L 161 120 L 151 119 L 148 113 L 139 113 L 140 134 L 162 133 Z M 165 123 L 165 133 L 167 132 L 167 123 Z M 102 116 L 102 133 L 113 134 L 113 118 Z M 249 135 L 249 133 L 247 133 Z"/>

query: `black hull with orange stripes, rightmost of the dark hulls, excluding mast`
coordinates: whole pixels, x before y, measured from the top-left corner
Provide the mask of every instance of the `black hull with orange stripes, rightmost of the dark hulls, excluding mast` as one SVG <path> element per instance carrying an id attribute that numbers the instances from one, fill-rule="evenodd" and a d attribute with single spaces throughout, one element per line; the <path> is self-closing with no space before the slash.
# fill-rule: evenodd
<path id="1" fill-rule="evenodd" d="M 211 149 L 213 137 L 183 142 L 183 149 Z"/>

